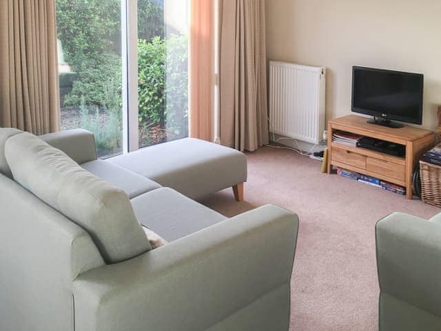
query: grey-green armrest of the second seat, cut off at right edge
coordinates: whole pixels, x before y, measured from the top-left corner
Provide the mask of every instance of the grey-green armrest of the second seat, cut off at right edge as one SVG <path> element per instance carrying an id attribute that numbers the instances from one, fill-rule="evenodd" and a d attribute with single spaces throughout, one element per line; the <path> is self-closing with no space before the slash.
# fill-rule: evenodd
<path id="1" fill-rule="evenodd" d="M 441 316 L 441 226 L 393 213 L 376 225 L 380 290 Z"/>

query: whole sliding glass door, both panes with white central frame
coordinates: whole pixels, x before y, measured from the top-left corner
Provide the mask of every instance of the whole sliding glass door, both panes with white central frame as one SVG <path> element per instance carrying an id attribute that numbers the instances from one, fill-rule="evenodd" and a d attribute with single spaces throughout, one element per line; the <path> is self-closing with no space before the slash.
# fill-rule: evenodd
<path id="1" fill-rule="evenodd" d="M 61 128 L 94 132 L 100 157 L 187 137 L 188 1 L 56 5 Z"/>

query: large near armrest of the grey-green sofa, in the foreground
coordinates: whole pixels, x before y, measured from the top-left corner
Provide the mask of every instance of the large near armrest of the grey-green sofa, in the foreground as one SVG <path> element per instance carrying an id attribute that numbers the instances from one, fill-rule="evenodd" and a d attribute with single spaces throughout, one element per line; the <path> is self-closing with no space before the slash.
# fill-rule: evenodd
<path id="1" fill-rule="evenodd" d="M 205 330 L 281 286 L 298 217 L 266 205 L 74 281 L 76 330 Z"/>

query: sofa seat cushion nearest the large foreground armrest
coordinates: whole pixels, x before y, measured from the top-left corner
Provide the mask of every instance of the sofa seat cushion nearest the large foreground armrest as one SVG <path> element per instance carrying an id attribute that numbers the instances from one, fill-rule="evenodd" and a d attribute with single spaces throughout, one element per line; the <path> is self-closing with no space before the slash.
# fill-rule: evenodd
<path id="1" fill-rule="evenodd" d="M 166 241 L 174 241 L 227 219 L 171 188 L 132 199 L 136 218 Z"/>

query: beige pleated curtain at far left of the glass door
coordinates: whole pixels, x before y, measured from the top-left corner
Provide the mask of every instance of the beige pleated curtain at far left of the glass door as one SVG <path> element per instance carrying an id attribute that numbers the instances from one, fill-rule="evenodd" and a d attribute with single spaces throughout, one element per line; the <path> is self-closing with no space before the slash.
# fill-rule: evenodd
<path id="1" fill-rule="evenodd" d="M 0 126 L 60 128 L 54 0 L 1 0 Z"/>

